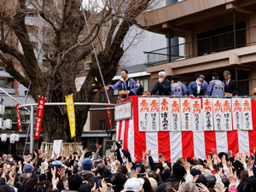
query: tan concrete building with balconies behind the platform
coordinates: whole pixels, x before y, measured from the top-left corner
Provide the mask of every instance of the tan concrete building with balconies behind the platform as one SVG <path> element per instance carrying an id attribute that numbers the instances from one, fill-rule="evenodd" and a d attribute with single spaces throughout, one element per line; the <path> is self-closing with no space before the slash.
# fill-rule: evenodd
<path id="1" fill-rule="evenodd" d="M 255 10 L 255 0 L 185 0 L 144 13 L 138 23 L 149 32 L 165 35 L 169 42 L 161 49 L 144 50 L 147 73 L 156 79 L 164 70 L 188 85 L 195 73 L 210 81 L 212 72 L 223 79 L 222 73 L 229 70 L 237 80 L 238 95 L 252 95 L 256 87 Z M 184 38 L 184 43 L 172 44 L 177 37 Z"/>

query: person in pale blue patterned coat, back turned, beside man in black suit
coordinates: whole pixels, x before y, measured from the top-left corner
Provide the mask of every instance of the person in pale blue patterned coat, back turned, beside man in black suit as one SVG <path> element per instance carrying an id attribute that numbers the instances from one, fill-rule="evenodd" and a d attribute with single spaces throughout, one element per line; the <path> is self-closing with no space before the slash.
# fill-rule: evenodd
<path id="1" fill-rule="evenodd" d="M 224 96 L 224 83 L 218 79 L 218 73 L 212 73 L 205 96 Z"/>

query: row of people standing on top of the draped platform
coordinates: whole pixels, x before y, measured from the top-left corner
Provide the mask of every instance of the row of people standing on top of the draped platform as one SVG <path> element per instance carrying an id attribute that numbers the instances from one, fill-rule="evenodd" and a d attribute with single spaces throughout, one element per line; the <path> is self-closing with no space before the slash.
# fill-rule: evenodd
<path id="1" fill-rule="evenodd" d="M 218 73 L 212 73 L 212 81 L 207 83 L 205 76 L 201 73 L 195 75 L 195 81 L 191 82 L 188 87 L 178 82 L 177 76 L 172 76 L 171 81 L 166 79 L 166 73 L 158 73 L 159 79 L 154 85 L 150 95 L 159 91 L 160 96 L 236 96 L 236 81 L 231 78 L 229 71 L 224 71 L 224 80 L 218 79 Z M 121 71 L 121 79 L 113 85 L 105 86 L 106 90 L 127 90 L 129 96 L 143 96 L 143 86 L 139 79 L 131 79 L 128 71 Z M 123 96 L 124 98 L 126 96 Z"/>

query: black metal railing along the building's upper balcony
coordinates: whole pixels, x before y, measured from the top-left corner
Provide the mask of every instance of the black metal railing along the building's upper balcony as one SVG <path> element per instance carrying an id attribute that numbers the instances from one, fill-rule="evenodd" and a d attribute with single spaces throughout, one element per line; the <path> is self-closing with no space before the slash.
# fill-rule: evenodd
<path id="1" fill-rule="evenodd" d="M 209 55 L 229 49 L 256 44 L 256 26 L 201 38 L 184 44 L 156 49 L 148 54 L 148 67 L 172 61 L 180 61 L 201 55 Z"/>

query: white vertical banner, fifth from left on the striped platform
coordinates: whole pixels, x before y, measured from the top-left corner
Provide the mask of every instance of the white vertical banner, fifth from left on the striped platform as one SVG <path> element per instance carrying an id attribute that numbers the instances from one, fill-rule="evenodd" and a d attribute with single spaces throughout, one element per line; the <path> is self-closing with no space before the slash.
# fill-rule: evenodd
<path id="1" fill-rule="evenodd" d="M 182 131 L 192 131 L 191 99 L 180 98 Z"/>

